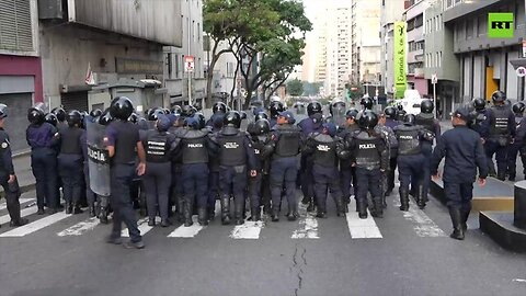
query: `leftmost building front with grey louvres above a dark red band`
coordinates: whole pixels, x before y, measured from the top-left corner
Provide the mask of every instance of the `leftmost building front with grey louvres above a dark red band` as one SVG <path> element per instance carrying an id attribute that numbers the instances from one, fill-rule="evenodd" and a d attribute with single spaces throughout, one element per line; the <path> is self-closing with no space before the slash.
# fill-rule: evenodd
<path id="1" fill-rule="evenodd" d="M 0 103 L 9 106 L 5 129 L 14 151 L 27 149 L 27 109 L 42 102 L 42 61 L 36 0 L 0 5 Z"/>

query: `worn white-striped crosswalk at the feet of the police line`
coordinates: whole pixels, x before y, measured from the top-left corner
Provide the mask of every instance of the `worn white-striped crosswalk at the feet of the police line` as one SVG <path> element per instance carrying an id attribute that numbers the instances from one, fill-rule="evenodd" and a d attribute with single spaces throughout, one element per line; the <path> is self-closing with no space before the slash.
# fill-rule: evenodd
<path id="1" fill-rule="evenodd" d="M 82 215 L 67 215 L 64 212 L 56 213 L 53 215 L 37 216 L 36 205 L 34 205 L 34 198 L 24 198 L 21 200 L 22 210 L 21 215 L 23 217 L 30 217 L 31 223 L 18 228 L 2 227 L 0 228 L 0 239 L 5 238 L 20 238 L 20 237 L 30 237 L 39 231 L 47 231 L 46 229 L 53 229 L 52 234 L 58 237 L 79 237 L 100 229 L 107 230 L 110 226 L 101 225 L 98 218 L 82 217 Z M 398 198 L 392 198 L 392 204 L 390 207 L 392 209 L 398 208 L 400 205 Z M 265 234 L 266 228 L 276 228 L 281 225 L 287 225 L 285 227 L 290 228 L 289 225 L 294 226 L 289 234 L 289 239 L 323 239 L 323 224 L 329 219 L 339 219 L 339 224 L 344 224 L 343 229 L 348 230 L 348 237 L 352 240 L 359 239 L 382 239 L 382 232 L 378 225 L 378 220 L 368 215 L 367 219 L 359 219 L 357 213 L 353 212 L 355 207 L 354 198 L 351 198 L 351 204 L 348 208 L 350 213 L 346 213 L 345 218 L 336 218 L 331 216 L 328 219 L 318 219 L 313 213 L 307 213 L 307 209 L 304 205 L 299 205 L 300 218 L 295 223 L 285 221 L 273 224 L 270 221 L 270 218 L 263 219 L 261 221 L 250 221 L 247 220 L 243 225 L 240 226 L 228 226 L 228 238 L 233 240 L 258 240 L 261 239 L 262 234 Z M 220 213 L 219 203 L 216 204 L 216 213 Z M 5 210 L 5 205 L 0 204 L 0 225 L 4 226 L 9 224 L 10 217 Z M 330 213 L 332 214 L 332 213 Z M 409 227 L 418 237 L 428 237 L 428 238 L 439 238 L 446 237 L 443 229 L 441 229 L 435 221 L 433 221 L 424 210 L 419 209 L 414 203 L 411 202 L 409 212 L 400 210 L 389 210 L 388 215 L 397 215 L 399 219 L 403 220 L 405 227 Z M 75 217 L 75 218 L 73 218 Z M 83 218 L 83 219 L 82 219 Z M 79 221 L 79 219 L 81 219 Z M 220 226 L 218 218 L 210 226 L 201 226 L 197 223 L 197 216 L 193 217 L 194 224 L 191 227 L 184 227 L 184 225 L 173 225 L 168 228 L 167 231 L 163 230 L 163 236 L 169 239 L 192 239 L 198 238 L 199 235 L 208 231 L 225 231 L 224 229 L 228 228 L 227 226 Z M 61 221 L 61 223 L 60 223 Z M 71 224 L 68 226 L 68 224 Z M 60 224 L 59 224 L 60 223 Z M 160 223 L 160 218 L 157 217 L 157 224 Z M 218 225 L 219 224 L 219 225 Z M 381 225 L 381 224 L 380 224 Z M 320 227 L 321 226 L 321 227 Z M 55 232 L 59 227 L 64 227 L 58 232 Z M 142 236 L 149 236 L 150 232 L 159 232 L 161 230 L 159 227 L 148 226 L 148 218 L 140 218 L 138 220 L 138 228 Z M 168 232 L 170 231 L 170 232 Z M 47 234 L 46 232 L 46 234 Z M 167 235 L 168 234 L 168 235 Z M 123 237 L 128 237 L 128 229 L 123 228 Z"/>

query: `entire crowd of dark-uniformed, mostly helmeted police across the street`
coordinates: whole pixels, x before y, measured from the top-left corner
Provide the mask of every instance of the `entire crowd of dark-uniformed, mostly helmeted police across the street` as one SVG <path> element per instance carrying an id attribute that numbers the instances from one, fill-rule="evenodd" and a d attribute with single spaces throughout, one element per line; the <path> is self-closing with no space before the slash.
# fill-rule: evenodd
<path id="1" fill-rule="evenodd" d="M 245 130 L 241 123 L 247 113 L 229 111 L 221 102 L 214 104 L 208 121 L 191 105 L 151 109 L 140 116 L 124 96 L 113 100 L 104 112 L 89 114 L 62 109 L 45 114 L 36 105 L 27 113 L 26 139 L 32 148 L 37 214 L 44 215 L 45 207 L 49 214 L 60 209 L 61 189 L 67 214 L 82 213 L 85 203 L 91 217 L 107 223 L 113 210 L 107 241 L 122 243 L 124 221 L 130 248 L 144 248 L 134 207 L 148 215 L 150 226 L 156 226 L 159 215 L 161 227 L 172 219 L 190 227 L 193 214 L 199 225 L 214 219 L 219 200 L 221 223 L 241 225 L 245 207 L 251 220 L 260 220 L 263 210 L 278 221 L 285 196 L 286 217 L 296 220 L 297 187 L 304 193 L 301 203 L 319 218 L 328 215 L 329 192 L 338 216 L 348 213 L 354 197 L 359 218 L 367 218 L 367 209 L 381 218 L 386 196 L 395 189 L 397 167 L 400 209 L 409 210 L 410 195 L 424 208 L 431 178 L 438 175 L 438 164 L 446 158 L 443 179 L 451 237 L 464 239 L 477 168 L 481 184 L 488 174 L 504 180 L 507 173 L 514 180 L 517 152 L 523 159 L 526 155 L 525 104 L 511 107 L 500 91 L 492 100 L 492 107 L 476 99 L 457 110 L 451 118 L 459 128 L 442 136 L 431 100 L 422 102 L 418 115 L 396 106 L 374 112 L 373 101 L 364 98 L 362 110 L 346 110 L 344 102 L 334 102 L 331 116 L 323 116 L 322 105 L 311 102 L 308 117 L 297 124 L 295 113 L 275 101 L 268 113 L 253 107 Z M 340 121 L 336 114 L 342 112 Z M 2 128 L 5 117 L 7 106 L 1 105 L 0 181 L 8 193 L 11 225 L 20 226 L 27 220 L 20 217 L 20 191 Z"/>

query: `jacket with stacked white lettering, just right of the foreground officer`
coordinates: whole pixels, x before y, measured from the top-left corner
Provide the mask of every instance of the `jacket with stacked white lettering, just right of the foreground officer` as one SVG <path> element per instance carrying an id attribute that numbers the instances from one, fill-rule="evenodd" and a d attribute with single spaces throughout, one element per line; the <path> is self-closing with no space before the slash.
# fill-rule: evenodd
<path id="1" fill-rule="evenodd" d="M 175 135 L 150 129 L 141 136 L 141 141 L 147 162 L 163 163 L 172 159 L 175 150 Z"/>

